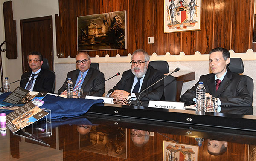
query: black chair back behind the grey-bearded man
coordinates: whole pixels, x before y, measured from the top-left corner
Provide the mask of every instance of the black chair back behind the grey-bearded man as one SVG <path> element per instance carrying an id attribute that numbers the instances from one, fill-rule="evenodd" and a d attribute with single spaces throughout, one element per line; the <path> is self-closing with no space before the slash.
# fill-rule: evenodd
<path id="1" fill-rule="evenodd" d="M 164 74 L 169 73 L 169 65 L 167 61 L 151 61 L 149 65 L 153 66 L 154 69 L 157 69 Z M 165 101 L 176 101 L 177 94 L 177 79 L 172 75 L 164 78 L 164 97 Z"/>

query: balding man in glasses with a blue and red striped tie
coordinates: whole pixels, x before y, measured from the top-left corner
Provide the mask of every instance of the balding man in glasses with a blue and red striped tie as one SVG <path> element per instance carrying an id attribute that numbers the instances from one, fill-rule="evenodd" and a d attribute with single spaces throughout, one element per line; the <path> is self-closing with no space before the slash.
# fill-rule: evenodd
<path id="1" fill-rule="evenodd" d="M 73 82 L 73 95 L 76 95 L 77 89 L 83 89 L 83 96 L 88 95 L 90 92 L 91 96 L 102 97 L 105 92 L 104 74 L 91 68 L 90 64 L 90 56 L 86 52 L 79 52 L 76 55 L 76 65 L 78 69 L 67 73 L 67 78 L 71 78 Z M 67 78 L 62 87 L 58 90 L 59 95 L 67 95 Z"/>

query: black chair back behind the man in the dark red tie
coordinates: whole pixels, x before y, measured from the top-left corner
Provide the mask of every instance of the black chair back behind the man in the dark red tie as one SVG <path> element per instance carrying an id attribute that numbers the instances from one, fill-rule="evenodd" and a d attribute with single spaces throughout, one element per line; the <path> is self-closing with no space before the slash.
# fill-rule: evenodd
<path id="1" fill-rule="evenodd" d="M 230 58 L 230 63 L 228 65 L 228 69 L 230 69 L 231 72 L 241 74 L 244 72 L 244 63 L 241 58 Z M 253 79 L 250 78 L 247 75 L 242 75 L 247 79 L 247 89 L 250 93 L 250 95 L 253 97 Z"/>

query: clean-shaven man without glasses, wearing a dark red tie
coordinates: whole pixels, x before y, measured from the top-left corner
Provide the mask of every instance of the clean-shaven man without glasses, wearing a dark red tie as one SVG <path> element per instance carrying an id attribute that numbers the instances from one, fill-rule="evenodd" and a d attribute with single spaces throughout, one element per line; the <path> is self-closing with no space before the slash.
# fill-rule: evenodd
<path id="1" fill-rule="evenodd" d="M 247 89 L 247 79 L 242 75 L 231 72 L 227 65 L 230 63 L 230 53 L 224 48 L 215 48 L 210 52 L 209 65 L 211 74 L 202 75 L 199 82 L 204 82 L 206 97 L 218 99 L 218 105 L 251 106 L 253 96 Z M 181 102 L 195 104 L 195 94 L 198 83 L 187 90 L 180 98 Z"/>

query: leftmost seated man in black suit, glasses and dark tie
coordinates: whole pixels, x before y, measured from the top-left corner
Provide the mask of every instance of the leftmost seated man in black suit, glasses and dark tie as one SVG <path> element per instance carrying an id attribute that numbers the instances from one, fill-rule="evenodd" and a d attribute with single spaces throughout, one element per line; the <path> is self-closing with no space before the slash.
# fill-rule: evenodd
<path id="1" fill-rule="evenodd" d="M 21 75 L 20 87 L 29 91 L 49 91 L 52 92 L 54 86 L 55 75 L 48 69 L 41 68 L 43 62 L 43 55 L 40 52 L 30 52 L 27 56 L 29 67 L 32 71 Z"/>

